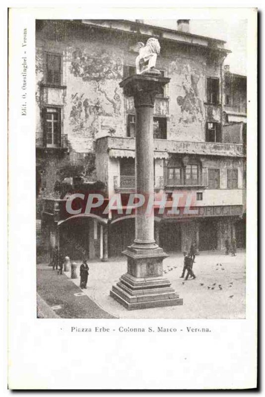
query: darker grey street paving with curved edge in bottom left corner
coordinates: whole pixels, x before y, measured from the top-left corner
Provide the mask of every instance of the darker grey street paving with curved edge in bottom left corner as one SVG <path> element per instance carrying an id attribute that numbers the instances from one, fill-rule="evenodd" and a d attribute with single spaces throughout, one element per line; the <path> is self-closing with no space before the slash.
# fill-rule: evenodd
<path id="1" fill-rule="evenodd" d="M 56 270 L 47 265 L 37 265 L 38 318 L 114 318 L 113 315 L 102 310 L 82 291 L 65 274 L 59 275 Z M 55 316 L 52 312 L 55 313 Z"/>

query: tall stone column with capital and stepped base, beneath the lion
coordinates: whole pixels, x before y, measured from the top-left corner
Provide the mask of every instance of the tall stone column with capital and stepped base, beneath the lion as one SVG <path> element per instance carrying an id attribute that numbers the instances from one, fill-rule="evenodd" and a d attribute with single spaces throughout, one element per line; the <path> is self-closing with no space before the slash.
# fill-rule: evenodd
<path id="1" fill-rule="evenodd" d="M 129 310 L 183 304 L 170 281 L 163 277 L 163 259 L 167 254 L 154 240 L 153 208 L 146 213 L 148 199 L 154 198 L 154 100 L 159 89 L 169 81 L 158 70 L 152 69 L 148 73 L 134 74 L 120 83 L 124 94 L 134 98 L 136 192 L 145 197 L 145 205 L 136 209 L 135 239 L 123 252 L 127 256 L 127 273 L 110 291 L 110 295 Z"/>

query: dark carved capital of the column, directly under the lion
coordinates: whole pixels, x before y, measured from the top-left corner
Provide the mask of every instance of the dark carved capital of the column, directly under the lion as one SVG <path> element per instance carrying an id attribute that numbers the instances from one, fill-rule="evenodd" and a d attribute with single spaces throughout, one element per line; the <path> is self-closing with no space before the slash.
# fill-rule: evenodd
<path id="1" fill-rule="evenodd" d="M 153 107 L 156 94 L 170 81 L 163 77 L 159 70 L 152 69 L 148 73 L 133 74 L 120 82 L 124 95 L 133 96 L 134 107 Z"/>

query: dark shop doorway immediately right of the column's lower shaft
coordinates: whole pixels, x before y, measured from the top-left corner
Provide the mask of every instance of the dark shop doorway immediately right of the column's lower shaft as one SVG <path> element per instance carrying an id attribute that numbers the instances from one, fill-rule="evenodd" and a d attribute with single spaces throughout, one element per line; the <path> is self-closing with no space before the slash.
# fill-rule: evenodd
<path id="1" fill-rule="evenodd" d="M 161 223 L 159 229 L 159 245 L 165 252 L 181 251 L 181 230 L 179 223 Z"/>

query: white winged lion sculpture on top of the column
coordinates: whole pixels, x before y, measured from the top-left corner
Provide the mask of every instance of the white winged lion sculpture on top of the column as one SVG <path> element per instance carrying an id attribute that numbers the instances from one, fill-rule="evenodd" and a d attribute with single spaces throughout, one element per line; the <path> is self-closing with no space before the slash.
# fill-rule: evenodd
<path id="1" fill-rule="evenodd" d="M 141 74 L 155 67 L 157 55 L 160 53 L 159 41 L 155 38 L 147 40 L 146 45 L 142 42 L 137 43 L 139 55 L 135 60 L 136 74 Z"/>

